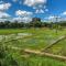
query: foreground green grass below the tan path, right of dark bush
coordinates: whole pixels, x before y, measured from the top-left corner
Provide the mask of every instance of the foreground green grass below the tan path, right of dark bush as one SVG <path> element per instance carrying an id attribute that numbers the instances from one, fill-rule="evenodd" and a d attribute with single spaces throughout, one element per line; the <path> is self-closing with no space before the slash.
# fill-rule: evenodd
<path id="1" fill-rule="evenodd" d="M 13 52 L 12 56 L 19 66 L 66 66 L 66 62 L 53 59 L 46 56 L 26 54 L 24 52 Z"/>

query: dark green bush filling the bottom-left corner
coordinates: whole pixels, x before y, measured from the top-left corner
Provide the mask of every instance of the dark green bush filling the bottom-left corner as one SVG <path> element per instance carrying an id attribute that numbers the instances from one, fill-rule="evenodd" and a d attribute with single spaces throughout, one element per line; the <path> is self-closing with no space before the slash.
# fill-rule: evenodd
<path id="1" fill-rule="evenodd" d="M 7 50 L 6 46 L 0 44 L 0 66 L 18 66 L 18 63 Z"/>

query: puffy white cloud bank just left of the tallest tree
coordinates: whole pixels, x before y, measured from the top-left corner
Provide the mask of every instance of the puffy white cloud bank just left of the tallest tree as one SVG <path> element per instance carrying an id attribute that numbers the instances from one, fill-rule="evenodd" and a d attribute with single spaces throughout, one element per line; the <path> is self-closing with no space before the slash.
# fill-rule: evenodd
<path id="1" fill-rule="evenodd" d="M 18 10 L 15 11 L 15 15 L 18 15 L 18 18 L 13 18 L 13 21 L 19 21 L 19 22 L 30 22 L 32 21 L 32 12 L 29 11 L 22 11 L 22 10 Z"/>

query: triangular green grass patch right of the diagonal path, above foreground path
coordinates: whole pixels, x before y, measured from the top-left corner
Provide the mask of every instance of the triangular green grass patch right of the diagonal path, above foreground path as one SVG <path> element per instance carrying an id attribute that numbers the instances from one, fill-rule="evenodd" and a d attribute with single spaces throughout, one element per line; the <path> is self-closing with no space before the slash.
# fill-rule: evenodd
<path id="1" fill-rule="evenodd" d="M 66 38 L 47 50 L 48 53 L 66 56 Z"/>

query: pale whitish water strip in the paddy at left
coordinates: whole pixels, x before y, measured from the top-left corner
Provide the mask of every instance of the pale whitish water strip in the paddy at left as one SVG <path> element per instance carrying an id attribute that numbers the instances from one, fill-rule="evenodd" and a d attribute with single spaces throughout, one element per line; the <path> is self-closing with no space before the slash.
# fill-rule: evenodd
<path id="1" fill-rule="evenodd" d="M 0 42 L 1 41 L 9 41 L 12 38 L 22 38 L 24 36 L 32 35 L 30 33 L 18 33 L 18 34 L 9 34 L 9 35 L 0 35 Z"/>

